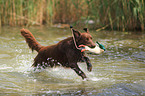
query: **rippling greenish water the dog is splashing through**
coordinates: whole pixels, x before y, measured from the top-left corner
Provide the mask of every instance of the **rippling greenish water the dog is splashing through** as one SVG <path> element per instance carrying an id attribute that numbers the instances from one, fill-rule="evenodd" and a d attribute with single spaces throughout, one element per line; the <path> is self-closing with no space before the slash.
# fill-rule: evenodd
<path id="1" fill-rule="evenodd" d="M 145 34 L 140 32 L 95 32 L 94 42 L 105 45 L 100 55 L 87 54 L 93 70 L 79 63 L 88 81 L 63 67 L 33 71 L 36 52 L 28 48 L 19 27 L 0 30 L 0 95 L 144 96 Z M 42 45 L 55 44 L 71 36 L 69 29 L 31 27 Z"/>

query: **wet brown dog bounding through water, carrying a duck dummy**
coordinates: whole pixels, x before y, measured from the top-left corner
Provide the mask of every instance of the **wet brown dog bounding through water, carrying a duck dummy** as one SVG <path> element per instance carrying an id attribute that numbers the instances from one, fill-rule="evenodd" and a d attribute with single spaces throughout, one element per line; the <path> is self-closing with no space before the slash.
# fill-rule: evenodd
<path id="1" fill-rule="evenodd" d="M 96 46 L 87 28 L 84 29 L 86 31 L 85 33 L 81 33 L 73 28 L 71 30 L 76 46 L 87 45 L 91 48 Z M 23 28 L 20 31 L 32 51 L 36 50 L 38 52 L 38 55 L 34 59 L 33 67 L 43 66 L 45 68 L 47 66 L 53 67 L 61 64 L 64 67 L 73 69 L 82 79 L 85 79 L 87 78 L 85 73 L 77 65 L 78 61 L 85 60 L 88 71 L 92 70 L 89 58 L 81 50 L 76 48 L 73 37 L 68 37 L 51 46 L 41 46 L 29 30 Z"/>

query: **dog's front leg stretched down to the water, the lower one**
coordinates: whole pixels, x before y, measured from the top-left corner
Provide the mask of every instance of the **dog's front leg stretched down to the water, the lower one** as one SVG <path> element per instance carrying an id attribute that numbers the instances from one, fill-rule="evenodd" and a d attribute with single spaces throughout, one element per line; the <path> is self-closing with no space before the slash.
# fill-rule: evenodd
<path id="1" fill-rule="evenodd" d="M 82 79 L 87 78 L 85 73 L 78 67 L 77 63 L 70 63 L 70 68 L 73 69 Z"/>

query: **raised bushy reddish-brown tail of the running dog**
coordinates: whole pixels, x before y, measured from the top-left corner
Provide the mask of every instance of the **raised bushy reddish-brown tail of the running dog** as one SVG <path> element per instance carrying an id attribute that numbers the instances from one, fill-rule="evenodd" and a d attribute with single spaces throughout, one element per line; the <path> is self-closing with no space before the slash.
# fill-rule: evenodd
<path id="1" fill-rule="evenodd" d="M 42 46 L 36 41 L 33 34 L 27 30 L 27 29 L 21 29 L 21 34 L 25 38 L 26 42 L 28 43 L 28 46 L 33 50 L 36 50 L 39 52 L 39 50 L 42 48 Z"/>

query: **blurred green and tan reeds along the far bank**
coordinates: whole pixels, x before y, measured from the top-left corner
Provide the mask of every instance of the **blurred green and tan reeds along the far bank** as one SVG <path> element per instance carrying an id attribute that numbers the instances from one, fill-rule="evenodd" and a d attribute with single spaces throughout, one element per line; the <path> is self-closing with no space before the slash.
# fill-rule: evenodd
<path id="1" fill-rule="evenodd" d="M 0 26 L 61 23 L 144 31 L 144 21 L 144 0 L 0 0 Z"/>

